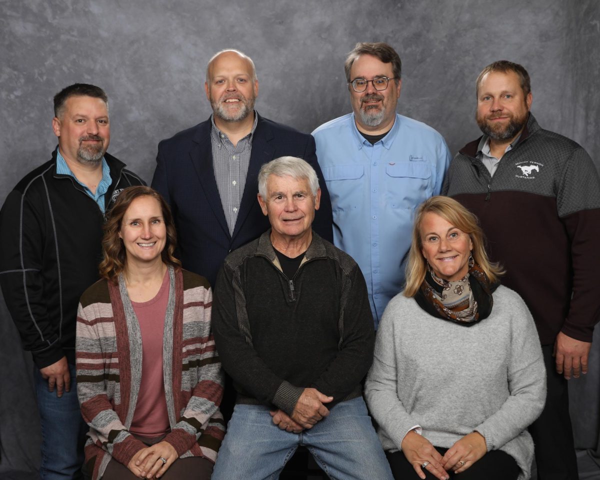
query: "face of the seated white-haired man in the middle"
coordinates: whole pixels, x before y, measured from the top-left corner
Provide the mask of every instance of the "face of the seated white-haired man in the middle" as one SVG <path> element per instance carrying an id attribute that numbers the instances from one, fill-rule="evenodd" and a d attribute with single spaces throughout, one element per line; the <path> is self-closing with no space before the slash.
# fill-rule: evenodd
<path id="1" fill-rule="evenodd" d="M 263 214 L 269 217 L 273 239 L 289 242 L 310 235 L 321 189 L 313 196 L 305 178 L 269 175 L 266 191 L 266 199 L 260 195 L 258 198 Z"/>

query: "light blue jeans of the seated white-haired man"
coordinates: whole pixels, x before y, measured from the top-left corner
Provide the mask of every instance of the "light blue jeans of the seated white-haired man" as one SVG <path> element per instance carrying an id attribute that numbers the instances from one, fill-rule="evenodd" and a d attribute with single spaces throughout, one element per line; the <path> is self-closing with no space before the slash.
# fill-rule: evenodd
<path id="1" fill-rule="evenodd" d="M 237 404 L 212 480 L 276 480 L 299 445 L 332 480 L 393 480 L 362 397 L 338 403 L 299 434 L 280 430 L 268 407 Z"/>

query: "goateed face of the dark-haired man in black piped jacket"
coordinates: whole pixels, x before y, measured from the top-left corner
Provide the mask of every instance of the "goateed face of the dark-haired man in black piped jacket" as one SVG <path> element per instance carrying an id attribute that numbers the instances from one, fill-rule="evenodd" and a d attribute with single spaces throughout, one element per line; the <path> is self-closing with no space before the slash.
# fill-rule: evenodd
<path id="1" fill-rule="evenodd" d="M 99 164 L 109 148 L 109 111 L 101 98 L 73 95 L 64 103 L 61 118 L 53 118 L 61 155 L 68 162 Z"/>

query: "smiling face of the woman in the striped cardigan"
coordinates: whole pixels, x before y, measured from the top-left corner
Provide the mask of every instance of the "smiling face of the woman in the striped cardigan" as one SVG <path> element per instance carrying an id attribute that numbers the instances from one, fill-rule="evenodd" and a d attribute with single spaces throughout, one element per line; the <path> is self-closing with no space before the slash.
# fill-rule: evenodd
<path id="1" fill-rule="evenodd" d="M 119 238 L 125 246 L 127 263 L 161 262 L 167 229 L 160 203 L 148 195 L 134 199 L 123 215 Z"/>

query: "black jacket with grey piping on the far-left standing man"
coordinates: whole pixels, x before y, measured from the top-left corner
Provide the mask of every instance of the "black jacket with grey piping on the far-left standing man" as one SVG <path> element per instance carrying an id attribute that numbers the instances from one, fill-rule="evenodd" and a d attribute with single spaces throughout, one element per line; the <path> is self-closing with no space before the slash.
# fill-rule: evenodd
<path id="1" fill-rule="evenodd" d="M 74 359 L 77 305 L 99 278 L 104 224 L 76 179 L 57 175 L 56 151 L 14 187 L 0 211 L 0 287 L 38 368 L 65 355 Z M 112 155 L 104 158 L 112 178 L 108 211 L 121 190 L 145 183 Z"/>

